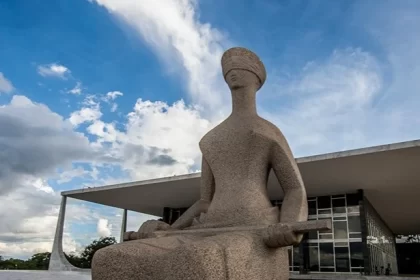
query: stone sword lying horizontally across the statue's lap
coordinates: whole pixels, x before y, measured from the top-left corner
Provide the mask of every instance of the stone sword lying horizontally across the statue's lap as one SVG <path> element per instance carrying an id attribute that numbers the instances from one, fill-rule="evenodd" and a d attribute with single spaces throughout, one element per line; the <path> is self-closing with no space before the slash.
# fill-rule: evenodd
<path id="1" fill-rule="evenodd" d="M 201 228 L 201 229 L 184 229 L 184 230 L 159 230 L 153 232 L 151 237 L 165 237 L 173 235 L 198 235 L 210 236 L 215 234 L 229 232 L 258 232 L 262 234 L 265 244 L 268 247 L 282 247 L 283 244 L 294 245 L 295 240 L 287 240 L 285 233 L 292 232 L 294 234 L 303 234 L 309 231 L 326 231 L 331 230 L 331 220 L 316 220 L 293 223 L 278 223 L 269 226 L 238 226 L 223 228 Z M 284 240 L 286 238 L 286 240 Z"/>

